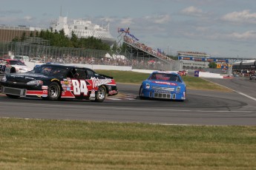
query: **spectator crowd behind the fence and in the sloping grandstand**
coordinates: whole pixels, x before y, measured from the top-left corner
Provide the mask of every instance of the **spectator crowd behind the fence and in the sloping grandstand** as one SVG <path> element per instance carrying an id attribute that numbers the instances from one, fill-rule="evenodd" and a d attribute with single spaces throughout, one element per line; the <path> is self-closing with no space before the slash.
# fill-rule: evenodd
<path id="1" fill-rule="evenodd" d="M 132 44 L 144 52 L 148 52 L 151 57 L 131 56 L 129 58 L 124 55 L 107 55 L 102 53 L 86 54 L 86 55 L 72 55 L 69 52 L 66 54 L 42 54 L 28 56 L 30 61 L 41 63 L 60 63 L 60 64 L 93 64 L 93 65 L 111 65 L 111 66 L 128 66 L 134 69 L 163 69 L 169 67 L 173 61 L 163 53 L 153 50 L 151 47 L 146 46 L 133 38 L 124 36 L 124 41 Z M 58 53 L 58 52 L 56 52 Z M 12 52 L 14 55 L 14 52 Z"/>

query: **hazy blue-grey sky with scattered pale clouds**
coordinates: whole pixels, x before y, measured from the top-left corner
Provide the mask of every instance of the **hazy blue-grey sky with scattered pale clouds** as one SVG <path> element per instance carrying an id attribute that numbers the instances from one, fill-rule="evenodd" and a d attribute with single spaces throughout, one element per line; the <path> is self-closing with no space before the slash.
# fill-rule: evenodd
<path id="1" fill-rule="evenodd" d="M 0 24 L 49 28 L 62 16 L 130 28 L 140 43 L 165 53 L 206 52 L 256 58 L 255 0 L 0 0 Z"/>

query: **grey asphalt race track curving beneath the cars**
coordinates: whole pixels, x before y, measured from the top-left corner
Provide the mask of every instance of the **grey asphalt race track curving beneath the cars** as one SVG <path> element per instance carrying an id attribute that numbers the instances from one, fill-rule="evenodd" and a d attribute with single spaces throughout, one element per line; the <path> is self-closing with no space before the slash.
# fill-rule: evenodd
<path id="1" fill-rule="evenodd" d="M 122 97 L 91 101 L 42 101 L 36 98 L 11 99 L 0 95 L 1 118 L 43 118 L 111 122 L 183 125 L 256 125 L 256 81 L 249 78 L 209 81 L 233 92 L 187 90 L 187 100 L 140 100 L 140 85 L 117 84 Z"/>

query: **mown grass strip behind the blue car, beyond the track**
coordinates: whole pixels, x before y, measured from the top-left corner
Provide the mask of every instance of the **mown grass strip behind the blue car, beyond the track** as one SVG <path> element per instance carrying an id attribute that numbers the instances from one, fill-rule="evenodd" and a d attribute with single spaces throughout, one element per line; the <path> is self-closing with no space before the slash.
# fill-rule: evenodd
<path id="1" fill-rule="evenodd" d="M 116 71 L 116 70 L 96 70 L 99 74 L 109 75 L 115 79 L 117 83 L 126 84 L 141 84 L 150 74 L 141 72 L 131 72 L 131 71 Z M 200 89 L 200 90 L 215 90 L 221 92 L 231 92 L 223 86 L 213 84 L 202 78 L 183 76 L 183 81 L 186 83 L 187 89 Z"/>

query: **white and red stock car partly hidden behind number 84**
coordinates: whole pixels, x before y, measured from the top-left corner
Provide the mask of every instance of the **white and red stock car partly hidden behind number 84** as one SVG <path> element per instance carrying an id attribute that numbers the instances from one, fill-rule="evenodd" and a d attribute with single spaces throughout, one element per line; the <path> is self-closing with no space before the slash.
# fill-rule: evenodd
<path id="1" fill-rule="evenodd" d="M 10 74 L 14 72 L 28 72 L 33 68 L 28 67 L 24 62 L 14 59 L 1 59 L 0 60 L 0 73 Z"/>

